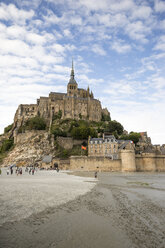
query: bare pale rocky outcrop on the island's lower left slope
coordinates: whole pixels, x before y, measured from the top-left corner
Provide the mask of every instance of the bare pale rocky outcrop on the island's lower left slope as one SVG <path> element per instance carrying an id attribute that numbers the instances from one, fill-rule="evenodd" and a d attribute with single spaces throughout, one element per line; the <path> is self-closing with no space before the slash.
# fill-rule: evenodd
<path id="1" fill-rule="evenodd" d="M 54 155 L 54 138 L 47 131 L 26 131 L 17 135 L 15 147 L 4 159 L 3 165 L 27 165 L 40 162 L 44 155 Z"/>

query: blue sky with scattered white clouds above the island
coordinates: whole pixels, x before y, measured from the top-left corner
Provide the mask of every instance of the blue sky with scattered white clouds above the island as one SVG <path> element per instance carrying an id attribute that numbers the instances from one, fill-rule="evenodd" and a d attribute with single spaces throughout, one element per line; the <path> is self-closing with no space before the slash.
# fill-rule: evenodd
<path id="1" fill-rule="evenodd" d="M 0 133 L 19 104 L 66 92 L 72 56 L 128 131 L 165 143 L 165 1 L 0 1 Z"/>

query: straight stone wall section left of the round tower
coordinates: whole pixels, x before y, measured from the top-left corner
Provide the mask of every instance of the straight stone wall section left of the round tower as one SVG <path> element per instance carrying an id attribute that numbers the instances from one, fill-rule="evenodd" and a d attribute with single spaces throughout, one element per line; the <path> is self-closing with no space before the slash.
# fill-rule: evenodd
<path id="1" fill-rule="evenodd" d="M 71 170 L 85 171 L 121 171 L 121 160 L 111 160 L 105 157 L 72 156 Z"/>

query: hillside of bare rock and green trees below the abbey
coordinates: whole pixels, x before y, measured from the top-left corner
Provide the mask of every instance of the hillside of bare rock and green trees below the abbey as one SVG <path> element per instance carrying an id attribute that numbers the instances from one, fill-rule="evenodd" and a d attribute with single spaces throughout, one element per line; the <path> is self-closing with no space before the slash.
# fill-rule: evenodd
<path id="1" fill-rule="evenodd" d="M 109 119 L 109 120 L 106 120 Z M 13 124 L 14 125 L 14 124 Z M 61 119 L 54 117 L 49 128 L 43 118 L 33 117 L 25 122 L 16 132 L 13 125 L 5 128 L 0 136 L 0 159 L 3 164 L 19 161 L 32 163 L 40 161 L 44 155 L 51 154 L 59 158 L 68 158 L 71 155 L 87 155 L 87 150 L 81 150 L 81 144 L 87 146 L 88 137 L 101 137 L 104 132 L 111 132 L 118 136 L 123 133 L 123 126 L 110 121 L 103 116 L 102 121 L 86 121 Z M 65 147 L 59 137 L 67 138 L 66 144 L 72 142 L 71 147 Z"/>

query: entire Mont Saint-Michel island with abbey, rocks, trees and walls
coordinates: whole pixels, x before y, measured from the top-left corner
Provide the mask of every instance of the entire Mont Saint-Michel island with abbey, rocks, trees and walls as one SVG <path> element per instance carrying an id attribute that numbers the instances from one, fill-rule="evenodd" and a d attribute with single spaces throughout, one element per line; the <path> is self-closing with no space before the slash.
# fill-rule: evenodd
<path id="1" fill-rule="evenodd" d="M 67 92 L 21 104 L 0 137 L 1 163 L 93 171 L 165 171 L 165 146 L 147 132 L 124 130 L 93 92 L 78 88 L 74 66 Z"/>

